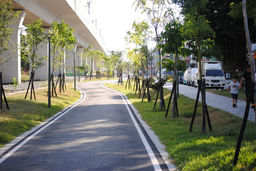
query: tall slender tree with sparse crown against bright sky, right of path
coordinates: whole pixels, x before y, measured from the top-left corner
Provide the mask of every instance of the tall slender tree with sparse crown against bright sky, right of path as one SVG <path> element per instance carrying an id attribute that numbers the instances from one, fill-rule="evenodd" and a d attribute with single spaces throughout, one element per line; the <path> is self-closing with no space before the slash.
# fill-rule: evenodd
<path id="1" fill-rule="evenodd" d="M 158 44 L 160 44 L 160 33 L 164 29 L 165 23 L 169 23 L 172 18 L 172 10 L 170 7 L 169 0 L 135 0 L 133 5 L 137 9 L 141 9 L 142 13 L 146 13 L 150 23 L 150 27 L 154 31 L 155 35 L 152 37 Z M 161 49 L 158 48 L 159 52 L 159 62 L 161 61 Z M 161 64 L 159 63 L 159 81 L 161 82 Z M 160 109 L 163 108 L 164 96 L 163 96 L 163 86 L 160 86 Z"/>

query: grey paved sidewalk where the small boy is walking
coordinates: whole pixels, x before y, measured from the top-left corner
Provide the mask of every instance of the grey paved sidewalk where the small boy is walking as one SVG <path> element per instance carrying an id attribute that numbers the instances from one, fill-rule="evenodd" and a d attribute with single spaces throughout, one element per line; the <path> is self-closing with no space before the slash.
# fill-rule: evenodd
<path id="1" fill-rule="evenodd" d="M 172 83 L 167 82 L 164 87 L 167 89 L 172 89 Z M 198 90 L 197 88 L 179 84 L 179 93 L 187 97 L 196 99 L 197 90 Z M 201 102 L 201 94 L 199 96 L 199 101 Z M 224 97 L 224 96 L 216 95 L 206 91 L 206 104 L 244 118 L 246 102 L 242 100 L 237 100 L 238 107 L 233 108 L 231 95 L 230 97 Z M 255 121 L 255 114 L 253 109 L 251 108 L 249 111 L 248 120 Z"/>

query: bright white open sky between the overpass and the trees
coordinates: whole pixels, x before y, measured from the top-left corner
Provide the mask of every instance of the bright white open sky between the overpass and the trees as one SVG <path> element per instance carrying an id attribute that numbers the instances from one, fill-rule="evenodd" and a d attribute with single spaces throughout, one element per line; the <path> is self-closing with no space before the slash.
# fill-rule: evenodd
<path id="1" fill-rule="evenodd" d="M 87 5 L 87 0 L 82 2 Z M 125 43 L 126 32 L 132 30 L 134 20 L 146 18 L 141 12 L 135 12 L 133 2 L 134 0 L 91 0 L 90 17 L 92 20 L 97 19 L 97 29 L 101 30 L 101 37 L 103 36 L 103 43 L 108 51 L 123 51 L 128 48 L 129 45 Z"/>

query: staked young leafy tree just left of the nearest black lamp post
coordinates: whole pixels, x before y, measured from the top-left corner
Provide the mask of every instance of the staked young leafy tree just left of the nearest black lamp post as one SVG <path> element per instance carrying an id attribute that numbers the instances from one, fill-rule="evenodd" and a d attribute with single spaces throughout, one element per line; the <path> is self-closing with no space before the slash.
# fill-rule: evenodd
<path id="1" fill-rule="evenodd" d="M 47 56 L 41 57 L 41 55 L 37 54 L 37 51 L 43 46 L 43 43 L 45 43 L 45 36 L 44 29 L 42 26 L 42 19 L 38 19 L 28 25 L 26 25 L 27 29 L 27 35 L 21 35 L 20 36 L 20 45 L 21 45 L 21 59 L 23 61 L 26 61 L 29 64 L 29 67 L 31 69 L 31 76 L 30 76 L 30 82 L 31 84 L 31 94 L 30 94 L 30 100 L 32 99 L 32 89 L 34 90 L 34 74 L 36 69 L 42 67 L 44 65 L 44 59 Z M 28 84 L 28 89 L 30 86 L 30 82 Z M 27 90 L 28 94 L 28 90 Z M 27 97 L 26 94 L 26 97 Z M 26 99 L 25 97 L 25 99 Z M 35 100 L 36 96 L 34 94 Z"/>

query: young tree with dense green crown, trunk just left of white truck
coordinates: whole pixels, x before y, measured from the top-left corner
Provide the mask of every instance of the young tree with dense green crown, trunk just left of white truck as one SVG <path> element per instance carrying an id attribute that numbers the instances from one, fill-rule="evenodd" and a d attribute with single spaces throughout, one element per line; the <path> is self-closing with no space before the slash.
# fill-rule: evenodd
<path id="1" fill-rule="evenodd" d="M 205 15 L 201 15 L 201 13 L 206 12 L 206 4 L 209 3 L 208 0 L 173 0 L 173 3 L 176 3 L 181 8 L 181 13 L 184 15 L 184 26 L 183 26 L 183 33 L 185 37 L 188 37 L 190 43 L 189 46 L 193 48 L 197 47 L 197 54 L 194 55 L 197 57 L 196 60 L 198 61 L 198 73 L 199 73 L 199 82 L 203 81 L 202 77 L 202 65 L 201 65 L 201 56 L 202 56 L 202 49 L 206 51 L 207 49 L 211 49 L 213 45 L 213 41 L 210 37 L 215 37 L 215 33 L 210 26 L 210 22 L 206 19 Z M 196 46 L 194 43 L 196 43 Z M 204 43 L 203 46 L 201 43 Z M 210 52 L 210 51 L 209 51 Z M 201 86 L 201 97 L 202 97 L 202 106 L 204 106 L 204 93 L 203 88 Z M 203 111 L 203 128 L 202 133 L 205 133 L 205 112 L 206 106 L 202 108 Z"/>

